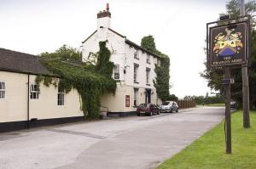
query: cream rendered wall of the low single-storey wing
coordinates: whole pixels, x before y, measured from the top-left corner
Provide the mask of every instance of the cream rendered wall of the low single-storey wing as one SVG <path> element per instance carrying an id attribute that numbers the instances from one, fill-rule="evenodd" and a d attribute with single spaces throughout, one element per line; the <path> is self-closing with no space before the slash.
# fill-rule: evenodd
<path id="1" fill-rule="evenodd" d="M 35 84 L 36 76 L 30 76 Z M 27 75 L 0 71 L 0 80 L 6 82 L 6 99 L 0 99 L 0 122 L 27 120 Z M 58 90 L 53 85 L 40 84 L 39 99 L 29 99 L 30 119 L 82 116 L 79 93 L 72 90 L 65 94 L 64 105 L 57 105 Z"/>

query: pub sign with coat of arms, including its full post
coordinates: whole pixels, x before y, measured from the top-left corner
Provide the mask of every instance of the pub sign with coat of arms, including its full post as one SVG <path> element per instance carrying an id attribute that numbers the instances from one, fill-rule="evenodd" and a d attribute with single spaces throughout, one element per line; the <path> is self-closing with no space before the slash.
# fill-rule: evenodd
<path id="1" fill-rule="evenodd" d="M 238 19 L 242 21 L 237 22 Z M 249 16 L 238 19 L 222 17 L 223 20 L 207 23 L 207 66 L 208 68 L 223 68 L 225 89 L 225 138 L 226 153 L 231 154 L 231 115 L 230 115 L 230 85 L 234 80 L 230 69 L 247 65 Z M 245 19 L 245 20 L 244 20 Z"/>

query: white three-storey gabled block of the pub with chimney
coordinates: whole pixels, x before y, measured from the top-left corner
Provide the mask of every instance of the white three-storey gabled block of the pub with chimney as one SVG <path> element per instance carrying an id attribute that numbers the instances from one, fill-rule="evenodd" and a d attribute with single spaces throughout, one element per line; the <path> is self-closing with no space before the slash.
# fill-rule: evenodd
<path id="1" fill-rule="evenodd" d="M 113 79 L 117 81 L 115 95 L 102 96 L 102 106 L 113 113 L 135 112 L 143 103 L 160 104 L 154 87 L 154 65 L 160 65 L 160 57 L 131 42 L 111 29 L 109 7 L 97 14 L 97 29 L 82 42 L 83 61 L 95 63 L 99 42 L 107 41 L 114 63 Z"/>

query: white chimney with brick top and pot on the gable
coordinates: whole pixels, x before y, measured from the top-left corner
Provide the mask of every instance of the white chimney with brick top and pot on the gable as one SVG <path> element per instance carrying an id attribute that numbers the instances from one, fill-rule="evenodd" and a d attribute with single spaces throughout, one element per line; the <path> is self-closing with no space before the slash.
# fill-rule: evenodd
<path id="1" fill-rule="evenodd" d="M 106 10 L 100 11 L 97 14 L 97 30 L 102 28 L 110 28 L 111 13 L 109 12 L 109 4 L 107 3 Z"/>

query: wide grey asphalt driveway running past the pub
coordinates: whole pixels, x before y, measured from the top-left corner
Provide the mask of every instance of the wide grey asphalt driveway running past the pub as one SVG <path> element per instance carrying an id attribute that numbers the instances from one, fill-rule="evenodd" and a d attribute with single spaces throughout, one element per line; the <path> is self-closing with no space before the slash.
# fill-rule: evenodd
<path id="1" fill-rule="evenodd" d="M 0 134 L 0 168 L 154 168 L 214 127 L 224 108 L 79 122 Z"/>

